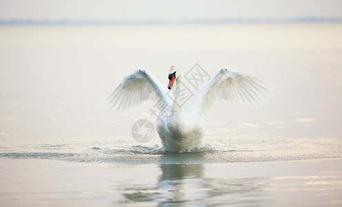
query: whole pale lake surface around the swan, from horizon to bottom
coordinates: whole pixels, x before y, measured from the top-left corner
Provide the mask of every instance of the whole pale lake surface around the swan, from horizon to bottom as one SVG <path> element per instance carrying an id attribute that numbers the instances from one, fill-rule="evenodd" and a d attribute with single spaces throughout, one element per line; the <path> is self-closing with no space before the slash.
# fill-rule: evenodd
<path id="1" fill-rule="evenodd" d="M 340 206 L 342 24 L 1 26 L 1 206 Z M 203 145 L 139 143 L 106 98 L 139 66 L 248 71 L 264 107 L 220 101 Z"/>

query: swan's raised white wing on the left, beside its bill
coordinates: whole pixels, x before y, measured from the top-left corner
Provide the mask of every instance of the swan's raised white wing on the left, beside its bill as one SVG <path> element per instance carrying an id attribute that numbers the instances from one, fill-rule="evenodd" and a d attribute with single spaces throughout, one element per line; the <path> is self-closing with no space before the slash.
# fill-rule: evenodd
<path id="1" fill-rule="evenodd" d="M 124 77 L 108 99 L 112 107 L 117 106 L 118 111 L 138 106 L 146 100 L 156 99 L 159 109 L 163 109 L 170 103 L 166 92 L 166 86 L 163 86 L 152 72 L 140 67 L 131 75 Z"/>

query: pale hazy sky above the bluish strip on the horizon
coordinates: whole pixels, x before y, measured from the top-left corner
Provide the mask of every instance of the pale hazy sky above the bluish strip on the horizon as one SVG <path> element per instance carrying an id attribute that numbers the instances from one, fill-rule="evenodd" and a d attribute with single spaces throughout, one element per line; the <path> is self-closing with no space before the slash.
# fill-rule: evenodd
<path id="1" fill-rule="evenodd" d="M 159 20 L 341 18 L 338 0 L 0 0 L 0 19 Z"/>

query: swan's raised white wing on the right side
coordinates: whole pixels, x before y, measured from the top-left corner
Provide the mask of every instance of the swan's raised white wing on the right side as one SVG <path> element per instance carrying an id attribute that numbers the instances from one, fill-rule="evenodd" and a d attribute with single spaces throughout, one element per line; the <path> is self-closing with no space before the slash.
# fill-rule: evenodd
<path id="1" fill-rule="evenodd" d="M 231 100 L 252 106 L 263 106 L 272 94 L 272 88 L 248 72 L 224 67 L 215 73 L 194 95 L 189 107 L 207 115 L 214 101 Z"/>

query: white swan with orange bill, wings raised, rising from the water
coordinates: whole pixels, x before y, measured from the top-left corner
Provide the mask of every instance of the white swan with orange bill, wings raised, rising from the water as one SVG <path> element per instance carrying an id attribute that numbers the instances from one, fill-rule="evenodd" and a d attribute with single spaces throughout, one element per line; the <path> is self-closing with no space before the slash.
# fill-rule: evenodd
<path id="1" fill-rule="evenodd" d="M 171 66 L 168 87 L 149 70 L 139 67 L 123 78 L 110 95 L 110 104 L 117 111 L 132 108 L 146 100 L 156 100 L 160 114 L 156 128 L 163 150 L 185 151 L 201 145 L 205 117 L 219 99 L 263 106 L 270 99 L 272 88 L 248 72 L 223 67 L 218 70 L 192 97 L 185 107 L 184 80 L 181 70 Z M 168 93 L 173 90 L 172 94 Z"/>

